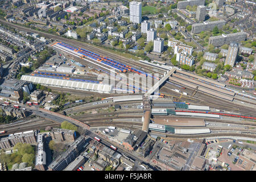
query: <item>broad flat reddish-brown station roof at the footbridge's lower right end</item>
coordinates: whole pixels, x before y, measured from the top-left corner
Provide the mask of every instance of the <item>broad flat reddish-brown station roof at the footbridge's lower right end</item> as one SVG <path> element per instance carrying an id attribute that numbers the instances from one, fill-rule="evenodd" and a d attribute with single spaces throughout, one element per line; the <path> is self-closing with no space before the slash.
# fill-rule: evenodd
<path id="1" fill-rule="evenodd" d="M 201 118 L 181 118 L 172 116 L 155 116 L 155 124 L 168 126 L 205 126 L 205 120 Z"/>

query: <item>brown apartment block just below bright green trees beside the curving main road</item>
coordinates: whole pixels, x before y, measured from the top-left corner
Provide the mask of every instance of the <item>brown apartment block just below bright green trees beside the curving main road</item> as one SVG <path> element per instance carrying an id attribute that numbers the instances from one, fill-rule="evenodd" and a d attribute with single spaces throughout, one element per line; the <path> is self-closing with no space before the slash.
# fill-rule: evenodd
<path id="1" fill-rule="evenodd" d="M 64 141 L 73 142 L 76 139 L 75 130 L 53 128 L 50 134 L 51 134 L 52 140 L 56 140 L 58 142 L 64 142 Z"/>

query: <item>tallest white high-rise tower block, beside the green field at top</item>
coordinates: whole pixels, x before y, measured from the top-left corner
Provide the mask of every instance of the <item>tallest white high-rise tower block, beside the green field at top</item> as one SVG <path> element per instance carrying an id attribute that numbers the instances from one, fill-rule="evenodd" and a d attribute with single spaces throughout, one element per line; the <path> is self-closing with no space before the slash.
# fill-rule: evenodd
<path id="1" fill-rule="evenodd" d="M 130 2 L 129 7 L 130 7 L 130 22 L 141 23 L 141 19 L 142 19 L 141 2 L 132 1 Z"/>

